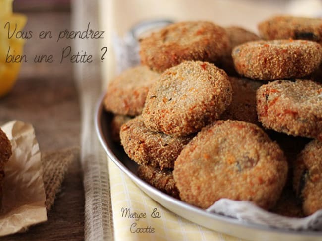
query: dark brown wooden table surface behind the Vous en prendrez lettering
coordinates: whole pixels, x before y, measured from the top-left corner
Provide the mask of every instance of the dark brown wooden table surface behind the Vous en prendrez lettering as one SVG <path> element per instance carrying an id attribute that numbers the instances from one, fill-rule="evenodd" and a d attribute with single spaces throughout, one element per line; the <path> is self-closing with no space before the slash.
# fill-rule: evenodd
<path id="1" fill-rule="evenodd" d="M 39 33 L 70 29 L 70 12 L 29 12 L 26 30 Z M 58 59 L 69 40 L 58 43 L 32 38 L 26 41 L 25 54 L 53 54 Z M 13 91 L 0 99 L 0 124 L 18 119 L 35 127 L 41 151 L 79 146 L 80 110 L 73 80 L 72 64 L 23 63 Z M 30 227 L 25 233 L 1 238 L 1 241 L 78 241 L 84 239 L 84 190 L 79 160 L 73 163 L 57 195 L 48 221 Z"/>

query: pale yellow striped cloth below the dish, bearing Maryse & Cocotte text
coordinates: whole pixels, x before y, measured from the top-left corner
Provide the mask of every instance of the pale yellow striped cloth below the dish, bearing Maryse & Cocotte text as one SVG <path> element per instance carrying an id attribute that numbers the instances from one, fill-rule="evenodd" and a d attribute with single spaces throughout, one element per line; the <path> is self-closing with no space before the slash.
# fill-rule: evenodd
<path id="1" fill-rule="evenodd" d="M 167 210 L 141 191 L 109 159 L 108 168 L 115 241 L 240 240 L 194 224 Z"/>

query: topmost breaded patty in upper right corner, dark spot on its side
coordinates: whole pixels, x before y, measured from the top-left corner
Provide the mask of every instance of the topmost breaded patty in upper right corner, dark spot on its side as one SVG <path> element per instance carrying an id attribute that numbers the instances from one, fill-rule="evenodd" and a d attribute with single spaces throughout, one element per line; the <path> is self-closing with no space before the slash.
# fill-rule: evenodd
<path id="1" fill-rule="evenodd" d="M 274 16 L 258 25 L 261 36 L 267 40 L 302 39 L 322 44 L 322 19 L 297 16 Z"/>

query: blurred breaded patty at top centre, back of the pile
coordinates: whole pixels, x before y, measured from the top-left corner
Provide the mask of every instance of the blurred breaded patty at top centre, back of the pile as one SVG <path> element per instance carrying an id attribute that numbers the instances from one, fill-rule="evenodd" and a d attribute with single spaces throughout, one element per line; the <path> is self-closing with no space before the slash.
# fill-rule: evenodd
<path id="1" fill-rule="evenodd" d="M 185 60 L 217 62 L 229 49 L 223 28 L 211 22 L 180 22 L 140 42 L 141 62 L 162 72 Z"/>

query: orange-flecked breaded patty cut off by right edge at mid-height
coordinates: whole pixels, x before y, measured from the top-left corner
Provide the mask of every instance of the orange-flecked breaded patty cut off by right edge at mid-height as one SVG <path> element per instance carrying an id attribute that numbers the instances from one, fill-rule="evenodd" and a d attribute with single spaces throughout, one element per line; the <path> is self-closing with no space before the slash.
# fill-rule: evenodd
<path id="1" fill-rule="evenodd" d="M 258 119 L 265 128 L 322 140 L 322 84 L 276 80 L 256 94 Z"/>

